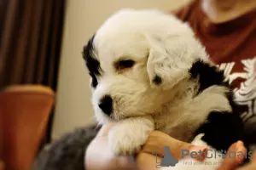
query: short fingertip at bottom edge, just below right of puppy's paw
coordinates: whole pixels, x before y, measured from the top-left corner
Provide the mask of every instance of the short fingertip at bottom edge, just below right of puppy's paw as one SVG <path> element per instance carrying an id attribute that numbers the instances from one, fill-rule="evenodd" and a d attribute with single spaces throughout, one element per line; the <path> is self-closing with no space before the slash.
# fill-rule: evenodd
<path id="1" fill-rule="evenodd" d="M 161 159 L 159 156 L 141 152 L 137 155 L 136 163 L 140 170 L 154 170 L 160 165 Z"/>

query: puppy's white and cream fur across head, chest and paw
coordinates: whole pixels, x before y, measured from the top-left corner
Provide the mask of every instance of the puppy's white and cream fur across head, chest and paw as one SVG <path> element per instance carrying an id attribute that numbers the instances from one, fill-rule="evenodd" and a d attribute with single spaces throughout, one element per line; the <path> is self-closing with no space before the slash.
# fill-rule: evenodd
<path id="1" fill-rule="evenodd" d="M 230 111 L 227 88 L 213 86 L 195 97 L 198 82 L 189 80 L 189 68 L 195 59 L 209 62 L 208 56 L 189 26 L 171 14 L 120 10 L 96 32 L 93 45 L 102 75 L 92 102 L 98 122 L 118 121 L 108 136 L 117 155 L 139 150 L 154 129 L 191 142 L 210 111 Z M 113 67 L 118 59 L 136 64 L 118 72 Z M 160 85 L 154 84 L 155 75 L 162 78 Z M 106 94 L 113 98 L 113 119 L 98 107 Z"/>

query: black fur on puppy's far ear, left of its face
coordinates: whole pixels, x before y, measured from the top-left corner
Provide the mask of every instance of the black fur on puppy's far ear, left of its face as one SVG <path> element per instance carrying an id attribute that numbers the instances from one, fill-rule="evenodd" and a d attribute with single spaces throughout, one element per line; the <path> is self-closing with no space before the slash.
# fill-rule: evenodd
<path id="1" fill-rule="evenodd" d="M 87 42 L 87 45 L 84 46 L 83 58 L 88 68 L 89 75 L 92 79 L 91 86 L 93 88 L 96 88 L 98 84 L 96 76 L 101 75 L 101 66 L 100 62 L 92 56 L 92 52 L 95 50 L 93 47 L 94 37 L 95 36 L 91 37 L 90 40 Z"/>

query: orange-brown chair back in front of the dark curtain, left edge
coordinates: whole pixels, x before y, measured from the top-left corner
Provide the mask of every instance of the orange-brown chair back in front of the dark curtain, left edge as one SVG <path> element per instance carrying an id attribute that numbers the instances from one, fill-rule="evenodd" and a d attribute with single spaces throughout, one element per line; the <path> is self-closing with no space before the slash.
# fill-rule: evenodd
<path id="1" fill-rule="evenodd" d="M 32 167 L 54 96 L 50 88 L 38 85 L 12 86 L 0 93 L 0 160 L 5 170 Z"/>

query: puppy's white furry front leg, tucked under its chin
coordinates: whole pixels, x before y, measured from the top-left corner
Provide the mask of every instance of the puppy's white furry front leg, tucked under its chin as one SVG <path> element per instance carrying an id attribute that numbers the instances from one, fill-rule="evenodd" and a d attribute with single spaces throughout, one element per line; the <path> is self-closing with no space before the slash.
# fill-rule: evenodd
<path id="1" fill-rule="evenodd" d="M 137 153 L 154 130 L 151 116 L 138 116 L 118 122 L 108 133 L 108 144 L 116 156 Z"/>

